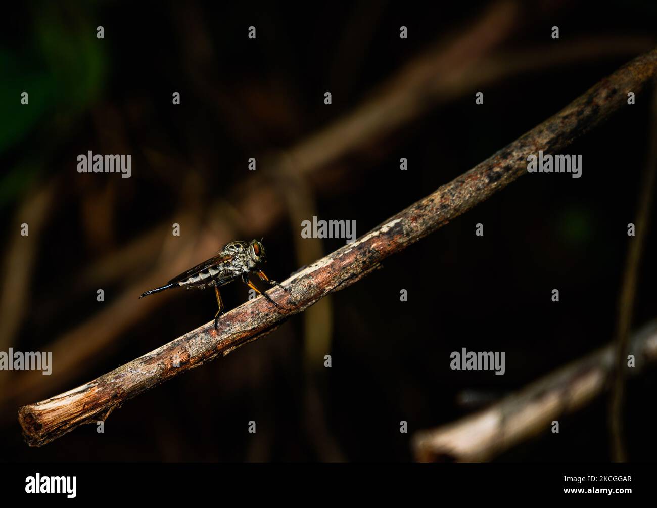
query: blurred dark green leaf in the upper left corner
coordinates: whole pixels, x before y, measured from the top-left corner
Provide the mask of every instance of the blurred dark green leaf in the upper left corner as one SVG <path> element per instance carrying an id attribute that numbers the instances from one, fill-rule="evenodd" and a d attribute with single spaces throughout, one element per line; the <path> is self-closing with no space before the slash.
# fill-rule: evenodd
<path id="1" fill-rule="evenodd" d="M 101 95 L 108 67 L 104 41 L 96 38 L 95 5 L 81 6 L 85 11 L 78 8 L 71 16 L 65 5 L 39 3 L 32 11 L 28 47 L 0 49 L 0 154 L 34 135 L 32 143 L 46 160 L 68 135 L 66 126 L 74 126 Z M 28 104 L 20 103 L 24 91 Z M 39 176 L 44 164 L 30 157 L 0 180 L 0 206 L 22 195 Z"/>

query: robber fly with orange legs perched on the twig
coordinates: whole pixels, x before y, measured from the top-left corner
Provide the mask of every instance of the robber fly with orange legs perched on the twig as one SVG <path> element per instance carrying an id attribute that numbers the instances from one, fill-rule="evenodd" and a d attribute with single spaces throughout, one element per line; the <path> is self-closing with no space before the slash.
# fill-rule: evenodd
<path id="1" fill-rule="evenodd" d="M 202 262 L 200 265 L 187 270 L 185 273 L 181 273 L 162 287 L 145 292 L 139 296 L 139 298 L 173 287 L 198 287 L 201 289 L 204 287 L 214 287 L 214 294 L 217 296 L 217 305 L 219 306 L 219 310 L 214 316 L 214 329 L 216 330 L 219 323 L 219 316 L 224 312 L 223 300 L 221 300 L 221 294 L 219 294 L 219 287 L 225 286 L 237 279 L 242 279 L 244 284 L 248 285 L 248 287 L 258 294 L 263 295 L 267 299 L 267 302 L 273 304 L 276 308 L 280 308 L 279 304 L 271 299 L 271 296 L 266 292 L 261 292 L 254 283 L 249 280 L 249 275 L 255 273 L 262 281 L 270 286 L 281 286 L 276 281 L 269 279 L 267 275 L 265 275 L 265 272 L 262 271 L 261 267 L 266 262 L 267 255 L 265 254 L 265 247 L 261 241 L 252 240 L 250 242 L 244 242 L 238 240 L 230 242 L 229 244 L 226 244 L 214 258 L 210 258 L 209 260 Z M 281 287 L 286 292 L 290 292 L 289 289 L 286 289 L 283 286 Z"/>

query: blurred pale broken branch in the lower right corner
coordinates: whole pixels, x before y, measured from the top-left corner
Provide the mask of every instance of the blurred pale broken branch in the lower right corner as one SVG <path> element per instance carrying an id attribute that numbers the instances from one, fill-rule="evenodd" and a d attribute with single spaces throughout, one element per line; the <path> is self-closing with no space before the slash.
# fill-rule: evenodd
<path id="1" fill-rule="evenodd" d="M 549 434 L 551 423 L 599 396 L 610 384 L 614 344 L 571 363 L 504 398 L 484 411 L 413 436 L 418 461 L 489 461 L 524 440 Z M 657 321 L 646 325 L 631 344 L 637 373 L 657 361 Z"/>

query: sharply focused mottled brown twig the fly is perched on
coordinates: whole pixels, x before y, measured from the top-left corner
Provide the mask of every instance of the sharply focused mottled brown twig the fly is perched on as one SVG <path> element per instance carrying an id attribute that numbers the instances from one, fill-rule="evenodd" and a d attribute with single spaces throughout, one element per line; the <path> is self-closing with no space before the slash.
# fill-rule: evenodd
<path id="1" fill-rule="evenodd" d="M 627 92 L 641 91 L 657 68 L 657 50 L 635 58 L 563 110 L 499 150 L 472 170 L 415 202 L 382 225 L 269 291 L 277 310 L 259 297 L 226 313 L 218 332 L 208 323 L 161 348 L 70 392 L 26 405 L 18 419 L 30 446 L 41 446 L 81 423 L 106 418 L 120 404 L 184 371 L 269 333 L 290 315 L 303 312 L 327 293 L 347 287 L 429 233 L 486 200 L 526 172 L 527 156 L 557 152 L 627 105 Z M 135 296 L 135 298 L 137 298 Z M 135 302 L 136 304 L 136 302 Z M 173 362 L 179 359 L 179 367 Z"/>

